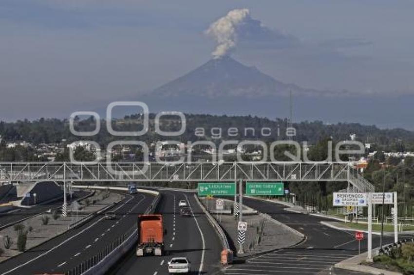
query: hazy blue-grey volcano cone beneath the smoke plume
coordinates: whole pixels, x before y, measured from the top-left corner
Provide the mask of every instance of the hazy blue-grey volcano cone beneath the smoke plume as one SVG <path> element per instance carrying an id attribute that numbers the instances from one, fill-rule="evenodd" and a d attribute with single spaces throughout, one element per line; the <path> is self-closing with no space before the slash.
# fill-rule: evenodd
<path id="1" fill-rule="evenodd" d="M 255 67 L 247 67 L 229 56 L 209 60 L 202 66 L 155 89 L 156 96 L 275 96 L 294 93 L 323 93 L 284 84 Z"/>

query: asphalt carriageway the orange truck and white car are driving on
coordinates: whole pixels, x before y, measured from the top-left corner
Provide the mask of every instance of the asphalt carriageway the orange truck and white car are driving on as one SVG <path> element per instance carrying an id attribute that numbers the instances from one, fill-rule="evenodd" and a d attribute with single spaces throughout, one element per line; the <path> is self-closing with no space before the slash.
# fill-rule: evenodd
<path id="1" fill-rule="evenodd" d="M 214 274 L 220 270 L 221 242 L 208 223 L 192 193 L 162 191 L 162 201 L 156 213 L 163 214 L 165 236 L 164 256 L 137 257 L 135 248 L 110 274 L 163 275 L 168 274 L 168 261 L 173 257 L 187 257 L 191 274 Z M 181 217 L 178 203 L 188 200 L 192 217 Z"/>

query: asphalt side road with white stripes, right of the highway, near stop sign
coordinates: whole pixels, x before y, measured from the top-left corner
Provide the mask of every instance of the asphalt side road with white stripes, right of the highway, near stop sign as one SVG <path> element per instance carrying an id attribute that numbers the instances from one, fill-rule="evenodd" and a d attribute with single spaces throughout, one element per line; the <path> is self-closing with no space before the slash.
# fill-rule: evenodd
<path id="1" fill-rule="evenodd" d="M 320 221 L 327 220 L 313 215 L 283 210 L 286 206 L 244 198 L 245 205 L 298 230 L 306 235 L 302 243 L 234 264 L 225 274 L 362 274 L 331 269 L 346 258 L 358 254 L 358 241 L 353 232 L 327 227 Z M 401 236 L 402 237 L 402 236 Z M 394 242 L 394 237 L 385 237 L 384 243 Z M 367 241 L 361 241 L 361 253 L 367 250 Z M 379 236 L 373 235 L 373 247 L 379 246 Z"/>

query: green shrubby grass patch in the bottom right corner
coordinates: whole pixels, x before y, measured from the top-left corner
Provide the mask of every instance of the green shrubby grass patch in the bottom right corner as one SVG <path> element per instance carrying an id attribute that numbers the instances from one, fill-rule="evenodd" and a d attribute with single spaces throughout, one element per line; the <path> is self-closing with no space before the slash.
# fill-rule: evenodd
<path id="1" fill-rule="evenodd" d="M 394 248 L 389 256 L 376 256 L 373 263 L 365 264 L 402 274 L 414 274 L 414 244 L 403 244 L 401 247 Z"/>

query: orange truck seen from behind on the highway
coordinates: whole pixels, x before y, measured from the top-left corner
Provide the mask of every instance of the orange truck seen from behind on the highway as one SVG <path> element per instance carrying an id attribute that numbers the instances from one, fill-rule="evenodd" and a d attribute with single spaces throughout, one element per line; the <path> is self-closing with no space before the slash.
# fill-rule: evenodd
<path id="1" fill-rule="evenodd" d="M 164 252 L 165 234 L 162 215 L 138 215 L 136 256 L 140 257 L 146 254 L 161 256 Z"/>

